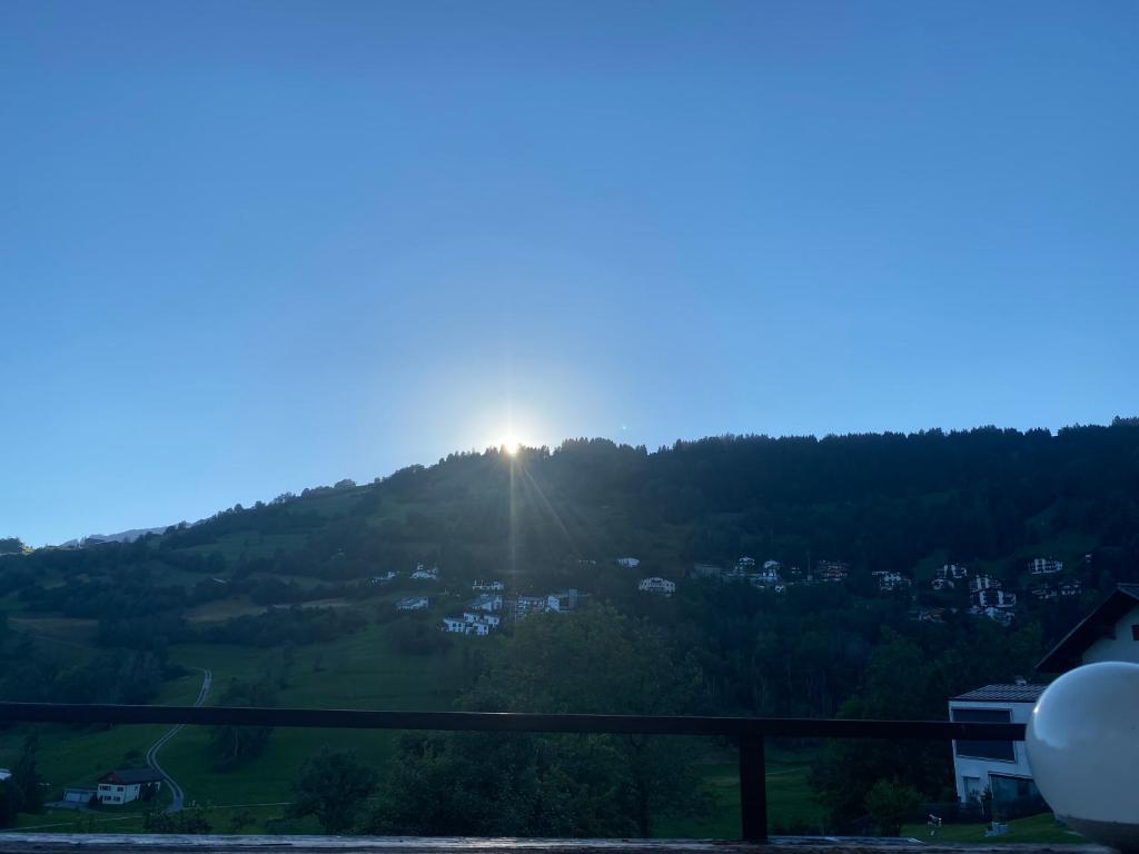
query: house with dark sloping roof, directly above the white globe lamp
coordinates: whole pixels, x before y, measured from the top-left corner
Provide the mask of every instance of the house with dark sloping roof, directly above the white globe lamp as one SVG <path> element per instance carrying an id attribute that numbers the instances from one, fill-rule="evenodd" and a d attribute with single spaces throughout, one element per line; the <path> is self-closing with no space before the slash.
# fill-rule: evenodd
<path id="1" fill-rule="evenodd" d="M 1041 673 L 1095 662 L 1139 664 L 1139 584 L 1118 584 L 1040 659 Z"/>

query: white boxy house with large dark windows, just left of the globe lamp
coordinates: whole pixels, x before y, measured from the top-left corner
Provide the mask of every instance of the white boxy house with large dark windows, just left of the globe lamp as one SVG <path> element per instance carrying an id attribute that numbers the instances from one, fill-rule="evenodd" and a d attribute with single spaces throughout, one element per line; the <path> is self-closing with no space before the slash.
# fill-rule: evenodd
<path id="1" fill-rule="evenodd" d="M 992 684 L 949 701 L 949 720 L 958 723 L 1026 723 L 1047 685 Z M 957 798 L 976 800 L 985 791 L 993 803 L 1039 798 L 1023 741 L 953 741 Z"/>

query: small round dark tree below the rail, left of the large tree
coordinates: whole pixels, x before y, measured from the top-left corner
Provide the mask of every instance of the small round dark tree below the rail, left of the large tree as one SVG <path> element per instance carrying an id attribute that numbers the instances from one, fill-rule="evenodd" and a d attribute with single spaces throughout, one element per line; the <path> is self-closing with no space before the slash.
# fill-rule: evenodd
<path id="1" fill-rule="evenodd" d="M 323 748 L 305 759 L 294 783 L 289 815 L 316 815 L 328 834 L 343 834 L 354 823 L 364 798 L 376 789 L 376 774 L 346 753 Z"/>

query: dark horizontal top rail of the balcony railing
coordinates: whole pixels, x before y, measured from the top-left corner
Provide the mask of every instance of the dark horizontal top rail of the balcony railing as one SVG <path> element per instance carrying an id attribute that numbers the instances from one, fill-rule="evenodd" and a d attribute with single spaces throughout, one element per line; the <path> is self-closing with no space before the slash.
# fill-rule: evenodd
<path id="1" fill-rule="evenodd" d="M 321 729 L 473 732 L 761 736 L 785 738 L 909 738 L 948 741 L 1023 741 L 1024 724 L 951 721 L 857 721 L 813 717 L 548 715 L 525 712 L 382 712 L 232 706 L 116 706 L 0 703 L 0 722 L 186 723 Z"/>

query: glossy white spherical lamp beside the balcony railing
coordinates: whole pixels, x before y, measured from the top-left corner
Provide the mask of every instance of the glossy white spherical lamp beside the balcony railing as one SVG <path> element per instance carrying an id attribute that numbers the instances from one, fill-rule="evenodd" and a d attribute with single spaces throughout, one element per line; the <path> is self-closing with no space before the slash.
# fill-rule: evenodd
<path id="1" fill-rule="evenodd" d="M 1040 794 L 1060 820 L 1139 852 L 1139 664 L 1065 673 L 1036 701 L 1025 744 Z"/>

